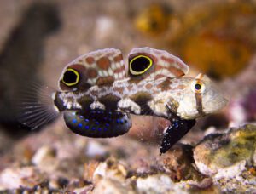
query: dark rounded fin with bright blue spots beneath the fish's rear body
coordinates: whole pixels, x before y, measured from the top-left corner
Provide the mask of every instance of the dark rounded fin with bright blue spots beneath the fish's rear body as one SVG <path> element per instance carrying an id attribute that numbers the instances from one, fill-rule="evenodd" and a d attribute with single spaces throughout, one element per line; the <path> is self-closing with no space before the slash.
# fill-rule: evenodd
<path id="1" fill-rule="evenodd" d="M 116 137 L 131 128 L 130 115 L 121 111 L 65 111 L 64 120 L 73 133 L 93 138 Z"/>

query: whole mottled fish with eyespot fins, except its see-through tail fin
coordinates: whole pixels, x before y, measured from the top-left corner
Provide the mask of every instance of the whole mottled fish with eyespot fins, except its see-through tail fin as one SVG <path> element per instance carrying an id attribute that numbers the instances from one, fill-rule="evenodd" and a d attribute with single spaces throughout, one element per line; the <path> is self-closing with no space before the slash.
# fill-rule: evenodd
<path id="1" fill-rule="evenodd" d="M 130 114 L 165 117 L 172 125 L 162 140 L 164 153 L 193 127 L 195 118 L 226 104 L 207 76 L 183 77 L 189 67 L 166 51 L 134 48 L 128 58 L 125 68 L 119 49 L 108 48 L 65 67 L 52 101 L 74 133 L 114 137 L 129 131 Z"/>

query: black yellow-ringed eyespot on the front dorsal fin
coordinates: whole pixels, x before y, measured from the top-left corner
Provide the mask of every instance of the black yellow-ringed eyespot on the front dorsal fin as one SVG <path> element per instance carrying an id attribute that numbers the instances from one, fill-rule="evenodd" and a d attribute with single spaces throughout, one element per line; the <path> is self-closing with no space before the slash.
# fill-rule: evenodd
<path id="1" fill-rule="evenodd" d="M 145 55 L 137 55 L 129 62 L 129 71 L 132 75 L 141 75 L 153 65 L 153 60 Z"/>

